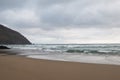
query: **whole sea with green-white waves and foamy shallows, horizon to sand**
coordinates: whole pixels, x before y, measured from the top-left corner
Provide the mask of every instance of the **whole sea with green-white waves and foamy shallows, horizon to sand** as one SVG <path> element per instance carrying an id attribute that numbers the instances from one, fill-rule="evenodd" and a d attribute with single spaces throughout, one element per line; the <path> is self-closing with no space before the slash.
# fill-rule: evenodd
<path id="1" fill-rule="evenodd" d="M 120 44 L 33 44 L 6 45 L 9 54 L 34 59 L 120 65 Z"/>

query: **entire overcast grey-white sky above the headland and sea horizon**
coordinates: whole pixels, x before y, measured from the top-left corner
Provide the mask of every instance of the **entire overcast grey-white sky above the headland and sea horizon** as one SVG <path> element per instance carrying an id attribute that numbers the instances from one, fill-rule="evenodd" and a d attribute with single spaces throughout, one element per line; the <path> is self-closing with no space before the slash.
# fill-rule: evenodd
<path id="1" fill-rule="evenodd" d="M 0 23 L 32 43 L 120 43 L 120 0 L 0 0 Z"/>

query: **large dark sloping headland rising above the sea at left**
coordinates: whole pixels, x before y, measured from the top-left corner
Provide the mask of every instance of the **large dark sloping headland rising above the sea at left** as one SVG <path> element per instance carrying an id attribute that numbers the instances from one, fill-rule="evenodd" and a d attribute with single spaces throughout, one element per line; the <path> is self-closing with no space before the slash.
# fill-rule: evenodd
<path id="1" fill-rule="evenodd" d="M 0 44 L 31 44 L 23 35 L 0 24 Z"/>

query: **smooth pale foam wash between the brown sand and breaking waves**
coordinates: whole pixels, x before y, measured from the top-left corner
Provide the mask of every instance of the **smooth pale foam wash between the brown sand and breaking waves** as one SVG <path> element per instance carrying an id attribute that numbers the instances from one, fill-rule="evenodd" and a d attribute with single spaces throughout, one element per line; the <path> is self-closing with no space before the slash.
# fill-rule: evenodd
<path id="1" fill-rule="evenodd" d="M 120 57 L 118 56 L 95 56 L 95 55 L 28 55 L 29 58 L 59 60 L 82 63 L 96 64 L 114 64 L 120 65 Z"/>

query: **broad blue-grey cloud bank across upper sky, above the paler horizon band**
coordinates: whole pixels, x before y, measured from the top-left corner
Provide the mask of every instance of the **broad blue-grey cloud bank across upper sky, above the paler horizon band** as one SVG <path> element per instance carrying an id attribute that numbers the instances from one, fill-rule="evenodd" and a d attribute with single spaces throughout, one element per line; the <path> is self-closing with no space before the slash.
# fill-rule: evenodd
<path id="1" fill-rule="evenodd" d="M 42 29 L 110 27 L 120 22 L 119 4 L 119 0 L 1 0 L 0 8 L 5 10 L 0 13 L 0 21 L 16 27 Z M 17 18 L 6 9 L 13 11 Z M 22 11 L 31 12 L 21 18 Z M 38 19 L 26 17 L 32 12 Z"/>

